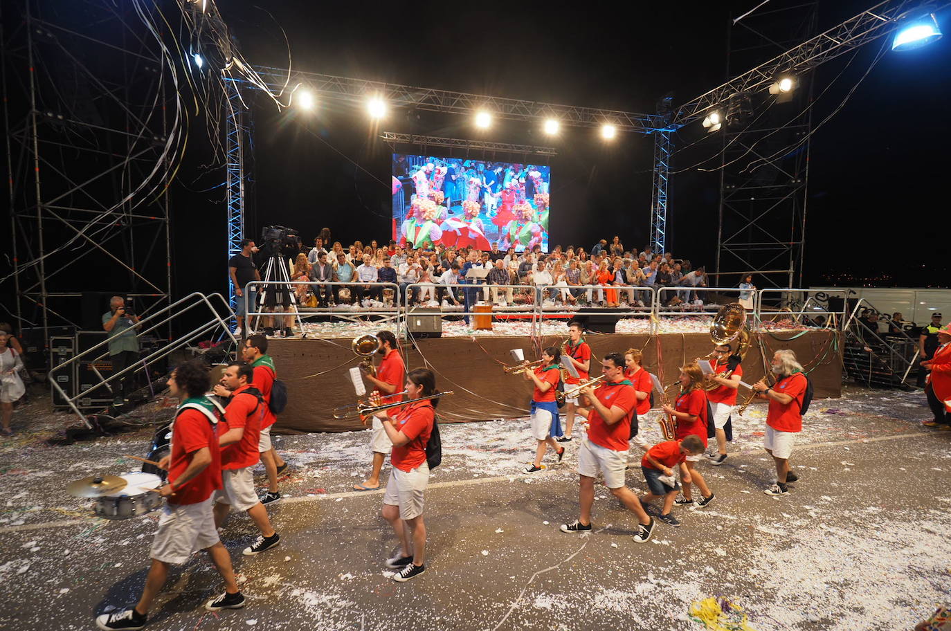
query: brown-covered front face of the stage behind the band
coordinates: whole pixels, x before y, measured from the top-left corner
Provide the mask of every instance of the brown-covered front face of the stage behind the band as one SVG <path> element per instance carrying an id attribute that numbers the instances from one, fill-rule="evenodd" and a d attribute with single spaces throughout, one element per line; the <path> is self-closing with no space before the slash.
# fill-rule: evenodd
<path id="1" fill-rule="evenodd" d="M 538 350 L 561 346 L 566 337 L 544 336 L 537 346 L 525 336 L 414 338 L 403 346 L 407 367 L 428 365 L 437 375 L 440 391 L 453 391 L 442 399 L 438 411 L 443 422 L 484 421 L 527 416 L 532 395 L 530 382 L 522 375 L 502 372 L 511 363 L 509 351 L 523 349 L 526 357 Z M 678 368 L 712 350 L 706 334 L 588 335 L 586 340 L 596 357 L 629 348 L 641 349 L 645 366 L 662 383 L 677 378 Z M 752 348 L 744 361 L 744 381 L 752 383 L 764 375 L 761 348 L 771 354 L 792 349 L 809 372 L 817 398 L 838 397 L 842 392 L 841 333 L 828 329 L 807 330 L 788 335 L 754 334 Z M 287 408 L 275 431 L 350 431 L 362 429 L 359 421 L 333 418 L 333 409 L 356 402 L 347 370 L 358 357 L 347 339 L 274 339 L 268 354 L 274 357 L 278 376 L 287 384 Z M 660 366 L 660 370 L 658 370 Z M 595 373 L 598 374 L 598 373 Z M 741 388 L 741 400 L 746 397 Z M 660 405 L 658 400 L 657 405 Z"/>

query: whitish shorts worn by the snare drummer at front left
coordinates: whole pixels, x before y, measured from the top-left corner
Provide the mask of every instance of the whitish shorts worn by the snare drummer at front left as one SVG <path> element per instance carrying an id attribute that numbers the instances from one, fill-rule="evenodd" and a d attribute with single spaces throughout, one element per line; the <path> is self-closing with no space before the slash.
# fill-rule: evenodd
<path id="1" fill-rule="evenodd" d="M 149 556 L 166 564 L 184 564 L 196 551 L 221 541 L 211 499 L 198 504 L 166 504 Z"/>

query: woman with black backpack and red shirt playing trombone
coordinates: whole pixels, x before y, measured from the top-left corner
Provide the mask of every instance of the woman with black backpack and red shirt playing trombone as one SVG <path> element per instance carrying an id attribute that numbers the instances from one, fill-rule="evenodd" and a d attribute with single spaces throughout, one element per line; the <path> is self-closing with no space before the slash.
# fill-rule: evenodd
<path id="1" fill-rule="evenodd" d="M 436 376 L 428 368 L 415 368 L 406 375 L 406 396 L 417 399 L 437 394 Z M 438 399 L 419 401 L 397 410 L 383 411 L 383 430 L 393 443 L 393 468 L 383 494 L 383 519 L 393 526 L 399 550 L 387 567 L 399 569 L 394 581 L 404 583 L 426 571 L 426 524 L 423 522 L 423 491 L 429 484 L 426 444 L 436 419 Z"/>

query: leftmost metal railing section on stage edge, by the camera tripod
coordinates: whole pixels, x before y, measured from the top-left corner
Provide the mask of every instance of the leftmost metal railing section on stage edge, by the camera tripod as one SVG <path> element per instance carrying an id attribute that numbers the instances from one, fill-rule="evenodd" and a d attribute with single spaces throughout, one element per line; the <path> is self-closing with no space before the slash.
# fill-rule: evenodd
<path id="1" fill-rule="evenodd" d="M 291 302 L 293 306 L 293 311 L 291 312 L 274 312 L 274 311 L 263 311 L 265 295 L 269 287 L 275 286 L 287 286 L 288 294 L 295 294 L 294 300 Z M 319 300 L 326 299 L 326 291 L 321 290 L 321 287 L 327 287 L 330 289 L 331 296 L 337 298 L 339 297 L 340 289 L 346 289 L 351 296 L 351 305 L 349 307 L 341 307 L 341 304 L 337 299 L 335 299 L 335 307 L 303 307 L 297 301 L 295 289 L 299 288 L 301 285 L 306 285 L 308 292 L 314 293 L 315 296 L 318 296 Z M 337 291 L 334 290 L 337 288 Z M 387 307 L 385 302 L 380 299 L 379 302 L 382 306 L 379 307 L 363 307 L 359 304 L 357 292 L 359 293 L 377 293 L 380 297 L 383 296 L 383 290 L 389 289 L 393 292 L 393 303 L 391 306 Z M 252 311 L 250 305 L 248 304 L 248 294 L 249 291 L 254 291 L 256 296 L 256 307 L 259 310 Z M 320 295 L 317 294 L 320 292 Z M 301 329 L 301 334 L 306 335 L 306 332 L 303 328 L 303 320 L 308 315 L 331 315 L 332 317 L 339 318 L 340 320 L 346 320 L 350 322 L 362 322 L 367 316 L 378 316 L 378 321 L 380 322 L 395 322 L 397 326 L 397 335 L 400 333 L 400 326 L 402 324 L 403 315 L 400 311 L 399 304 L 399 285 L 392 282 L 301 282 L 300 280 L 252 280 L 244 286 L 242 299 L 244 301 L 244 317 L 248 318 L 248 323 L 250 322 L 251 317 L 290 317 L 296 319 L 299 328 Z M 251 327 L 247 325 L 248 331 L 255 331 L 261 327 Z M 290 327 L 276 327 L 276 328 L 290 328 Z"/>

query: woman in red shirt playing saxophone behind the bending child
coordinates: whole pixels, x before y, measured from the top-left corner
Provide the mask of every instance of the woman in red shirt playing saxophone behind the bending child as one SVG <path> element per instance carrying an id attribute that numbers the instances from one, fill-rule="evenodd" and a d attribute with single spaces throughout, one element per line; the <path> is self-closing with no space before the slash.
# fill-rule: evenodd
<path id="1" fill-rule="evenodd" d="M 674 407 L 664 406 L 664 411 L 673 417 L 677 424 L 677 430 L 674 437 L 678 440 L 687 438 L 690 434 L 699 436 L 700 441 L 707 449 L 707 396 L 699 388 L 699 384 L 704 379 L 704 373 L 697 366 L 696 362 L 684 366 L 680 369 L 680 396 Z M 686 506 L 692 504 L 698 508 L 708 506 L 713 501 L 713 491 L 707 487 L 707 481 L 700 471 L 694 469 L 696 463 L 704 457 L 703 452 L 691 453 L 680 465 L 680 481 L 684 484 L 684 497 L 678 498 L 674 504 Z M 690 493 L 690 485 L 696 485 L 700 489 L 701 499 L 694 502 Z M 680 526 L 680 522 L 673 515 L 664 515 L 660 517 L 662 522 L 670 526 Z"/>

